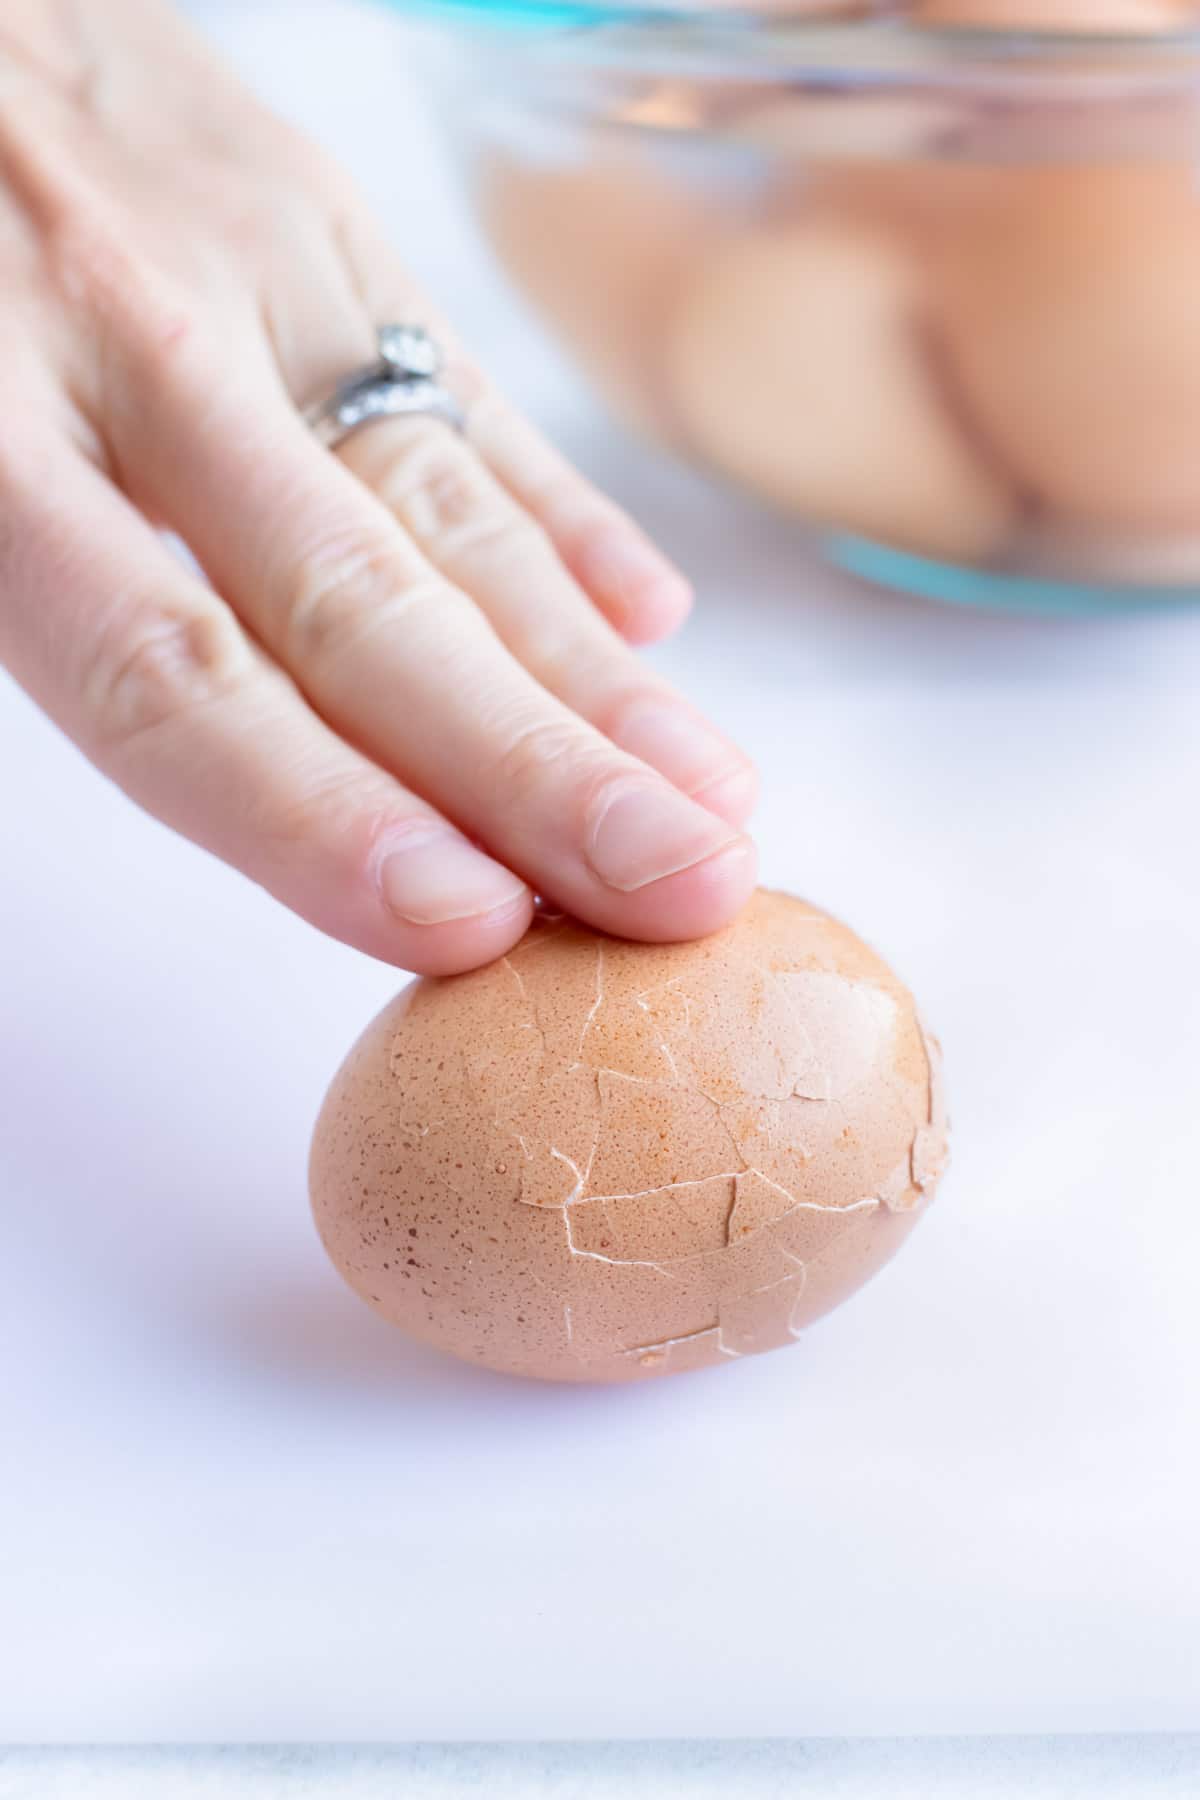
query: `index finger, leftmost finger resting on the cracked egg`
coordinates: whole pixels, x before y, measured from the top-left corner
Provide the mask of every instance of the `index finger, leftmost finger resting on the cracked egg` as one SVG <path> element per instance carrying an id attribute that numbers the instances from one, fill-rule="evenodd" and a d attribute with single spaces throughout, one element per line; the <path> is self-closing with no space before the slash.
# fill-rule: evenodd
<path id="1" fill-rule="evenodd" d="M 383 961 L 448 974 L 524 934 L 524 882 L 342 743 L 94 468 L 0 470 L 0 655 L 128 794 Z"/>

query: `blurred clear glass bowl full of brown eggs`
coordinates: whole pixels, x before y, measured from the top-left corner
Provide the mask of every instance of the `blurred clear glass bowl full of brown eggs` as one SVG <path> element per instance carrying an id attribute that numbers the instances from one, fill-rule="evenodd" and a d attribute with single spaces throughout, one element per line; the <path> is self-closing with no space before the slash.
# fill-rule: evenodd
<path id="1" fill-rule="evenodd" d="M 1178 0 L 1058 0 L 1155 27 L 1097 36 L 955 7 L 1029 0 L 475 16 L 482 227 L 624 421 L 842 567 L 1196 599 L 1200 34 L 1157 29 Z"/>

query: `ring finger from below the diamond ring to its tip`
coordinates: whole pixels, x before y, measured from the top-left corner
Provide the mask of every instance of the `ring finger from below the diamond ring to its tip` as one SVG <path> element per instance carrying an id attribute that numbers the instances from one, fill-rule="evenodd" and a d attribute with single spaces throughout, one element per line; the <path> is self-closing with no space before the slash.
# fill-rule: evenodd
<path id="1" fill-rule="evenodd" d="M 745 824 L 748 760 L 617 637 L 470 445 L 437 421 L 396 419 L 358 432 L 340 455 L 543 688 L 709 812 Z"/>

